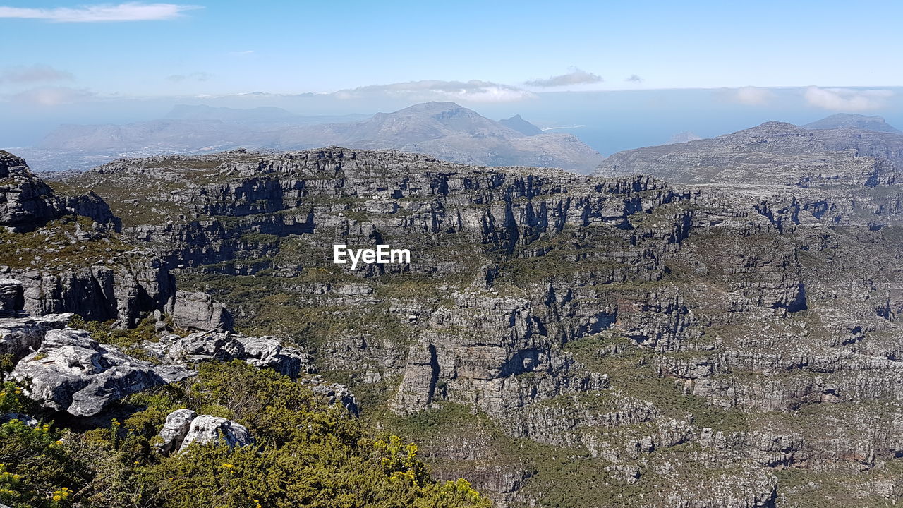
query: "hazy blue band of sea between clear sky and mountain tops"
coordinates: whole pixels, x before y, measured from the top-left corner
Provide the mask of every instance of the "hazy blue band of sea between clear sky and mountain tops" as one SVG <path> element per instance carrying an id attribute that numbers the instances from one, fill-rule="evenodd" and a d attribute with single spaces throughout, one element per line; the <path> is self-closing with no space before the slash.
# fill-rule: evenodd
<path id="1" fill-rule="evenodd" d="M 865 90 L 837 92 L 827 89 L 828 93 L 833 93 L 829 100 L 837 102 L 836 108 L 827 108 L 811 99 L 813 89 L 755 89 L 752 99 L 744 95 L 751 93 L 749 89 L 663 89 L 545 92 L 531 99 L 506 102 L 451 101 L 495 120 L 519 114 L 537 127 L 550 129 L 548 132 L 578 136 L 602 155 L 662 144 L 684 131 L 712 137 L 770 120 L 800 125 L 838 112 L 879 115 L 891 125 L 903 126 L 903 89 L 886 89 L 889 93 L 869 99 L 873 103 L 867 108 L 855 107 L 851 105 L 853 99 L 844 99 L 841 95 L 861 94 Z M 423 98 L 426 99 L 442 98 Z M 149 121 L 164 118 L 177 105 L 241 109 L 274 107 L 298 116 L 341 116 L 389 113 L 416 103 L 415 100 L 391 97 L 337 99 L 333 95 L 256 94 L 217 98 L 98 99 L 43 107 L 42 114 L 35 114 L 32 105 L 17 104 L 7 109 L 7 118 L 11 121 L 0 127 L 0 139 L 5 147 L 39 146 L 43 136 L 61 125 L 122 125 Z"/>

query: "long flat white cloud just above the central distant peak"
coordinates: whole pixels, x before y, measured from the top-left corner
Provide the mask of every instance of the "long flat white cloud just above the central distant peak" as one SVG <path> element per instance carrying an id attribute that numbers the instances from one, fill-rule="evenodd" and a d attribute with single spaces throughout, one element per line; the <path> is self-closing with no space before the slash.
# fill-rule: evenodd
<path id="1" fill-rule="evenodd" d="M 409 100 L 462 100 L 470 102 L 511 102 L 534 99 L 535 94 L 525 89 L 490 81 L 442 81 L 422 80 L 371 85 L 357 89 L 345 89 L 334 93 L 338 99 L 367 99 L 370 97 L 396 97 Z"/>

